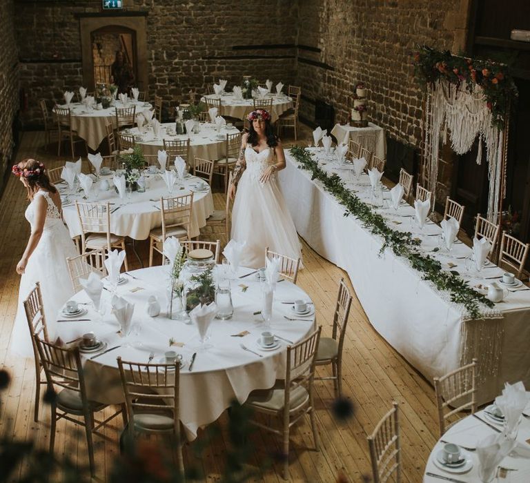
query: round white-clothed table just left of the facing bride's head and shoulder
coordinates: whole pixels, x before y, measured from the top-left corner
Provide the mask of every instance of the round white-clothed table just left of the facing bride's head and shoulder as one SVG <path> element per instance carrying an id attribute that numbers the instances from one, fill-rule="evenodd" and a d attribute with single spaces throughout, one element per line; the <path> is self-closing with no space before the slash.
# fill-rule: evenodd
<path id="1" fill-rule="evenodd" d="M 235 127 L 226 128 L 224 126 L 221 130 L 215 129 L 215 124 L 209 122 L 201 123 L 201 130 L 197 134 L 190 136 L 190 159 L 188 164 L 193 166 L 193 159 L 195 156 L 202 159 L 221 159 L 225 156 L 225 141 L 227 134 L 236 134 L 239 130 Z M 162 124 L 164 130 L 163 137 L 155 137 L 152 128 L 148 128 L 144 132 L 139 132 L 138 128 L 130 129 L 130 134 L 135 135 L 135 141 L 144 155 L 156 155 L 158 150 L 164 149 L 164 139 L 175 141 L 188 139 L 188 135 L 168 135 L 168 131 L 175 131 L 175 123 L 168 122 Z"/>

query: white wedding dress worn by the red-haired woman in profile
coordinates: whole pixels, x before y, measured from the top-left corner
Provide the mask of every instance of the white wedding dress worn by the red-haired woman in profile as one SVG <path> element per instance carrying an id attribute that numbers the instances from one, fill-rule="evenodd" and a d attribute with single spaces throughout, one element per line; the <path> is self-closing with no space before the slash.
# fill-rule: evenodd
<path id="1" fill-rule="evenodd" d="M 63 224 L 61 213 L 46 191 L 37 191 L 26 209 L 25 216 L 32 229 L 35 225 L 35 201 L 38 197 L 44 197 L 48 204 L 46 220 L 39 244 L 30 256 L 26 271 L 20 279 L 17 317 L 14 319 L 10 341 L 10 351 L 22 357 L 33 357 L 30 330 L 23 300 L 28 297 L 35 286 L 35 282 L 40 282 L 48 336 L 50 340 L 54 340 L 57 332 L 57 312 L 73 295 L 66 257 L 78 255 L 70 238 L 70 233 Z"/>

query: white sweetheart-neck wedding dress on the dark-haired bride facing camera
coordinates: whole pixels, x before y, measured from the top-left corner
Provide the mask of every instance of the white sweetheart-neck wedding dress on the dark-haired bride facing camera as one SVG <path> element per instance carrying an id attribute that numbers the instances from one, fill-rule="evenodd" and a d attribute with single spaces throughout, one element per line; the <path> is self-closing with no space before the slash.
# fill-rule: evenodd
<path id="1" fill-rule="evenodd" d="M 277 174 L 266 183 L 259 181 L 273 164 L 274 151 L 245 149 L 246 168 L 235 195 L 231 237 L 246 242 L 239 264 L 252 268 L 265 266 L 265 248 L 282 255 L 301 257 L 295 224 L 279 190 Z"/>

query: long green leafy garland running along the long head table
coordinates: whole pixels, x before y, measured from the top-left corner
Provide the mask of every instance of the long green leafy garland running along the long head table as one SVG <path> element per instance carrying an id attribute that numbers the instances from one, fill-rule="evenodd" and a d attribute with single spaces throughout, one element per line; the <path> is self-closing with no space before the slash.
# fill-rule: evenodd
<path id="1" fill-rule="evenodd" d="M 422 279 L 429 280 L 440 291 L 449 292 L 451 302 L 462 304 L 469 317 L 479 318 L 481 305 L 490 308 L 494 306 L 491 300 L 473 290 L 458 272 L 442 270 L 442 264 L 437 259 L 421 253 L 418 248 L 420 240 L 413 238 L 411 233 L 390 228 L 386 219 L 346 188 L 338 175 L 328 175 L 320 168 L 306 148 L 294 146 L 291 148 L 291 155 L 300 164 L 300 168 L 311 171 L 311 179 L 320 181 L 324 189 L 346 208 L 344 216 L 355 216 L 370 233 L 382 237 L 384 242 L 381 251 L 390 248 L 395 255 L 406 258 L 415 270 L 422 273 Z"/>

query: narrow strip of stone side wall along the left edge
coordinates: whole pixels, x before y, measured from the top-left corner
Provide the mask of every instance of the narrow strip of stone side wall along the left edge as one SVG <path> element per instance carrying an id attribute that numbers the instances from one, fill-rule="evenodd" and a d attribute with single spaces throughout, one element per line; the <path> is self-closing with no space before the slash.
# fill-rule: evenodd
<path id="1" fill-rule="evenodd" d="M 12 124 L 19 109 L 19 69 L 17 43 L 14 37 L 13 2 L 0 2 L 0 169 L 8 168 L 14 146 Z M 3 176 L 0 176 L 0 191 Z"/>

